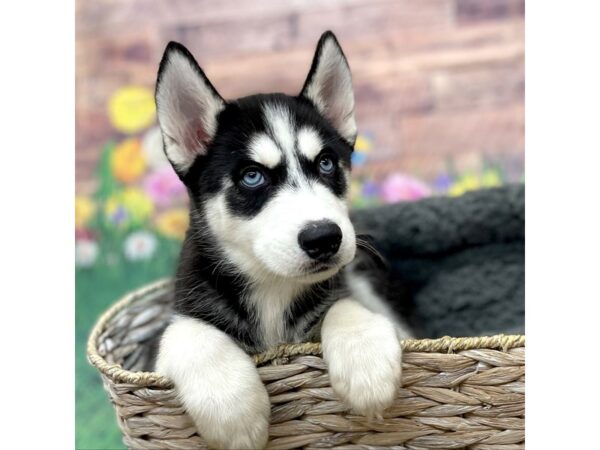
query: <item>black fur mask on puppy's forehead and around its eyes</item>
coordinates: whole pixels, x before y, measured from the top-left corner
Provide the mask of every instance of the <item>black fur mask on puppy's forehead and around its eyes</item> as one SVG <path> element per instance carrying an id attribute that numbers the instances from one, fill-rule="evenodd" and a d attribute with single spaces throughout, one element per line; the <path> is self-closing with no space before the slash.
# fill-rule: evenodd
<path id="1" fill-rule="evenodd" d="M 294 114 L 297 126 L 309 125 L 317 130 L 323 142 L 327 143 L 323 152 L 331 155 L 343 167 L 350 168 L 352 147 L 316 111 L 312 103 L 304 97 L 284 94 L 253 95 L 226 104 L 219 115 L 217 132 L 206 155 L 198 156 L 184 176 L 183 181 L 193 200 L 221 192 L 225 180 L 230 177 L 234 186 L 226 192 L 231 211 L 239 216 L 250 217 L 258 214 L 277 189 L 288 183 L 285 161 L 275 169 L 262 167 L 268 178 L 268 184 L 263 188 L 249 191 L 237 183 L 244 168 L 256 165 L 245 150 L 250 136 L 256 132 L 268 134 L 262 114 L 262 106 L 266 103 L 285 106 Z M 301 158 L 301 163 L 305 174 L 322 179 L 337 196 L 345 195 L 348 186 L 340 171 L 324 177 L 319 174 L 316 161 Z"/>

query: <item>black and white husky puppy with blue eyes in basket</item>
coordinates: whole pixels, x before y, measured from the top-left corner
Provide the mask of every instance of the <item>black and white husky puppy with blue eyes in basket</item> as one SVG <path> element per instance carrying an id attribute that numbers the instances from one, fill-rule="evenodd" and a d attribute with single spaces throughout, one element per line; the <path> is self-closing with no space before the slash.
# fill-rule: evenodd
<path id="1" fill-rule="evenodd" d="M 335 392 L 356 413 L 379 415 L 394 400 L 407 334 L 354 270 L 354 95 L 335 36 L 321 37 L 297 97 L 235 101 L 170 43 L 156 104 L 190 197 L 176 316 L 156 370 L 174 381 L 198 431 L 213 447 L 263 447 L 269 397 L 248 353 L 316 339 Z"/>

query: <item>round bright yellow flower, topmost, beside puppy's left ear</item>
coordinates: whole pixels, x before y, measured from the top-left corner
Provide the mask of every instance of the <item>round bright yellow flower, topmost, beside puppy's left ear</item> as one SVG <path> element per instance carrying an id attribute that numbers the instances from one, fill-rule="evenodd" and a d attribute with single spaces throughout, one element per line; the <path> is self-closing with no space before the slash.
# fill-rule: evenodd
<path id="1" fill-rule="evenodd" d="M 122 133 L 137 133 L 154 122 L 154 93 L 143 86 L 125 86 L 110 98 L 108 116 Z"/>

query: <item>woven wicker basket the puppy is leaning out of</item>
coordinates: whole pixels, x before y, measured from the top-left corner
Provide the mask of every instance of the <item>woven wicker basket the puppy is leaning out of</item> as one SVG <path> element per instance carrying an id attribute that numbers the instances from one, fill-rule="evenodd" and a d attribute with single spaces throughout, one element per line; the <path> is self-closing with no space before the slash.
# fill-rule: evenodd
<path id="1" fill-rule="evenodd" d="M 167 323 L 170 295 L 169 280 L 127 295 L 89 338 L 88 358 L 130 448 L 206 448 L 172 383 L 139 371 Z M 272 403 L 268 448 L 524 448 L 524 336 L 407 340 L 402 346 L 402 388 L 378 420 L 352 415 L 336 397 L 319 344 L 256 355 Z"/>

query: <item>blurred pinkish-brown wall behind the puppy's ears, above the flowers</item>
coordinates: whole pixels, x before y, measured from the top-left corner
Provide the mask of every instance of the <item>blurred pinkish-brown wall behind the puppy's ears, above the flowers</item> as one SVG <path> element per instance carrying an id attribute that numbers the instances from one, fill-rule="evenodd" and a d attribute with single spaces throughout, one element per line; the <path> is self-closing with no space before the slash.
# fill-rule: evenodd
<path id="1" fill-rule="evenodd" d="M 297 93 L 326 29 L 348 56 L 359 128 L 376 136 L 369 170 L 428 177 L 482 154 L 522 164 L 523 0 L 78 0 L 76 20 L 79 191 L 114 136 L 110 94 L 153 87 L 167 41 L 232 98 Z"/>

